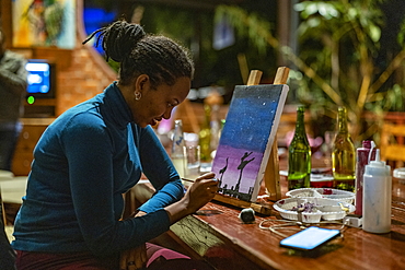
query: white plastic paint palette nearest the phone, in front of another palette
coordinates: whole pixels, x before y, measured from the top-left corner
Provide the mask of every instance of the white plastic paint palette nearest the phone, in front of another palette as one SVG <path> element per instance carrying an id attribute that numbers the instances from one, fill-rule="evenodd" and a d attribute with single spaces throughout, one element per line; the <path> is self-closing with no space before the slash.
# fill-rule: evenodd
<path id="1" fill-rule="evenodd" d="M 315 197 L 282 199 L 273 207 L 284 219 L 298 220 L 298 212 L 292 209 L 304 203 L 313 203 L 315 209 L 313 212 L 301 213 L 304 223 L 317 223 L 321 219 L 325 221 L 342 220 L 347 213 L 356 210 L 355 206 L 347 202 Z M 344 209 L 348 209 L 348 211 Z"/>

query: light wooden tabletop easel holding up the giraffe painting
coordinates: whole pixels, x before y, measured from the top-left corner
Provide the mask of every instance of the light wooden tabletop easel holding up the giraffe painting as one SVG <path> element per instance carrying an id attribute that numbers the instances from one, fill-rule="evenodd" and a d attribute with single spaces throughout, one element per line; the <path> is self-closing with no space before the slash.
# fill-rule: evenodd
<path id="1" fill-rule="evenodd" d="M 289 71 L 290 71 L 289 68 L 287 67 L 278 68 L 274 84 L 286 84 Z M 259 70 L 252 70 L 246 85 L 259 84 L 262 74 L 263 72 Z M 264 174 L 264 181 L 268 199 L 273 201 L 281 199 L 277 136 L 275 137 L 275 140 L 271 145 L 270 156 L 268 159 Z M 270 207 L 266 203 L 242 201 L 220 193 L 217 193 L 213 199 L 240 208 L 252 208 L 253 210 L 255 210 L 255 212 L 265 215 L 269 215 L 271 211 Z"/>

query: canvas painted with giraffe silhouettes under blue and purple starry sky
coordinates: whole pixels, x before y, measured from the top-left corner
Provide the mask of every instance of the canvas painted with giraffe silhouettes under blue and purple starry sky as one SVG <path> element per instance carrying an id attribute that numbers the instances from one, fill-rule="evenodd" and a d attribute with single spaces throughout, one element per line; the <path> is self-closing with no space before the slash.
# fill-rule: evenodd
<path id="1" fill-rule="evenodd" d="M 212 172 L 219 193 L 256 201 L 289 87 L 235 86 Z"/>

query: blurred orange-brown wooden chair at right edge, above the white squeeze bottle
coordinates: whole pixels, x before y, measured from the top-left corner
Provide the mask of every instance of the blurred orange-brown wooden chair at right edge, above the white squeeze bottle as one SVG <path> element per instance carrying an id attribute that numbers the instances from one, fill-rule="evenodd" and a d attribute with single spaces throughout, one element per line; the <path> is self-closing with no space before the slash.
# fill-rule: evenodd
<path id="1" fill-rule="evenodd" d="M 381 129 L 381 160 L 392 168 L 405 162 L 405 125 L 384 124 Z"/>

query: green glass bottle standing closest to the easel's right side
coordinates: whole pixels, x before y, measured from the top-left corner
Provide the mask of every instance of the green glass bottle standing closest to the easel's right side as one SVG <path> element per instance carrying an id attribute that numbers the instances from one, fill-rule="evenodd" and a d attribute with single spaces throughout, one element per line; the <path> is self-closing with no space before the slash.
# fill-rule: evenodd
<path id="1" fill-rule="evenodd" d="M 309 188 L 311 181 L 311 146 L 304 125 L 304 107 L 297 108 L 296 132 L 288 148 L 288 189 Z"/>

